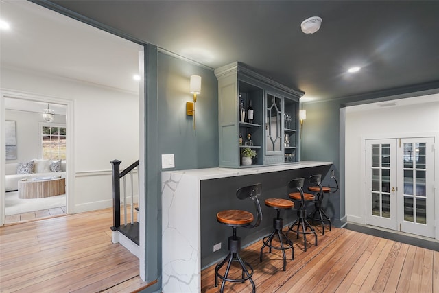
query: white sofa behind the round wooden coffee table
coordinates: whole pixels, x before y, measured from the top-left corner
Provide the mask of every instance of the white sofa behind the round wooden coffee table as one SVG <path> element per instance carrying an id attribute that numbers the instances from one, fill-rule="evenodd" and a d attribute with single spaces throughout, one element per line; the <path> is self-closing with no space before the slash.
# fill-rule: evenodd
<path id="1" fill-rule="evenodd" d="M 49 160 L 34 160 L 35 161 L 49 161 Z M 46 162 L 44 162 L 46 163 Z M 35 172 L 37 168 L 34 168 L 34 172 L 30 174 L 16 174 L 17 167 L 19 163 L 8 163 L 5 164 L 5 181 L 6 181 L 6 191 L 16 191 L 19 189 L 19 180 L 37 178 L 37 177 L 51 177 L 60 176 L 65 178 L 66 176 L 66 162 L 61 162 L 61 172 L 51 172 L 50 168 L 43 168 L 45 172 Z M 38 168 L 42 169 L 42 168 Z"/>

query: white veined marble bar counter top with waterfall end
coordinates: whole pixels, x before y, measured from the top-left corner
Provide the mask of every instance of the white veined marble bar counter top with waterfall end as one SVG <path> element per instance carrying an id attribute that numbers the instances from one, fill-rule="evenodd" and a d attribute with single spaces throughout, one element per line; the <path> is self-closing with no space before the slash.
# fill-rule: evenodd
<path id="1" fill-rule="evenodd" d="M 162 183 L 162 288 L 164 293 L 201 292 L 200 182 L 332 165 L 302 161 L 232 169 L 164 171 Z"/>

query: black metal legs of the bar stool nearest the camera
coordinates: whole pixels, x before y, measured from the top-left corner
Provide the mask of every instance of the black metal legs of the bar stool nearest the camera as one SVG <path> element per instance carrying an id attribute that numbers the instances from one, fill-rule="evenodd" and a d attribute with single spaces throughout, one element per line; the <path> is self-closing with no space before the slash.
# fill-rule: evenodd
<path id="1" fill-rule="evenodd" d="M 228 255 L 226 258 L 215 266 L 215 287 L 218 286 L 218 277 L 222 279 L 220 292 L 224 291 L 224 284 L 226 281 L 234 282 L 234 283 L 244 283 L 244 281 L 249 280 L 252 283 L 252 292 L 256 292 L 256 286 L 254 285 L 254 281 L 252 280 L 253 268 L 250 266 L 250 263 L 243 261 L 241 257 L 239 257 L 239 251 L 241 250 L 241 237 L 237 237 L 236 235 L 236 227 L 233 227 L 233 236 L 228 237 Z M 228 278 L 228 272 L 230 271 L 230 266 L 232 265 L 232 261 L 237 261 L 241 265 L 242 268 L 242 277 L 241 279 L 230 279 Z M 226 272 L 224 272 L 224 276 L 219 274 L 219 270 L 224 266 L 227 262 Z M 250 270 L 250 272 L 249 272 Z"/>

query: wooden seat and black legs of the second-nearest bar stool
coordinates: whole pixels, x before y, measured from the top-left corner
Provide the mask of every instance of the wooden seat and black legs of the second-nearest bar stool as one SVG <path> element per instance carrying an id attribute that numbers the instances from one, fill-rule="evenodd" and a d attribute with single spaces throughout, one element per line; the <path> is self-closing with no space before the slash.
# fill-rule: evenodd
<path id="1" fill-rule="evenodd" d="M 265 246 L 268 246 L 268 252 L 270 253 L 272 252 L 272 249 L 282 250 L 283 270 L 285 271 L 285 268 L 287 267 L 287 257 L 285 255 L 285 250 L 291 248 L 291 259 L 294 259 L 294 248 L 291 240 L 289 240 L 282 231 L 283 219 L 281 218 L 281 209 L 292 209 L 294 207 L 294 202 L 292 202 L 291 200 L 284 200 L 283 198 L 267 198 L 265 200 L 265 205 L 267 207 L 272 207 L 273 209 L 276 209 L 277 215 L 276 218 L 273 218 L 273 232 L 270 234 L 270 236 L 264 237 L 262 239 L 263 246 L 261 247 L 261 256 L 259 257 L 259 261 L 262 262 L 263 248 L 265 248 Z M 277 237 L 279 239 L 279 243 L 281 246 L 272 245 L 272 240 L 274 237 Z M 283 244 L 284 240 L 287 244 L 286 246 L 284 246 Z"/>

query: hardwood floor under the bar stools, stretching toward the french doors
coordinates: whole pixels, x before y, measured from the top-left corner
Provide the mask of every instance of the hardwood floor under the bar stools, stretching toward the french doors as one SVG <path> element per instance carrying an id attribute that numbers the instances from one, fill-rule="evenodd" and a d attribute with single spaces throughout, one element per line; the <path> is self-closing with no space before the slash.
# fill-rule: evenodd
<path id="1" fill-rule="evenodd" d="M 303 238 L 293 238 L 294 260 L 287 261 L 285 272 L 280 250 L 268 253 L 265 248 L 262 263 L 261 241 L 241 250 L 254 268 L 257 292 L 439 292 L 437 251 L 340 228 L 324 236 L 318 233 L 318 246 L 309 244 L 306 253 Z M 241 275 L 240 270 L 230 272 Z M 215 288 L 215 265 L 203 270 L 202 292 L 219 292 L 218 281 Z M 251 289 L 249 281 L 226 282 L 224 292 Z"/>

